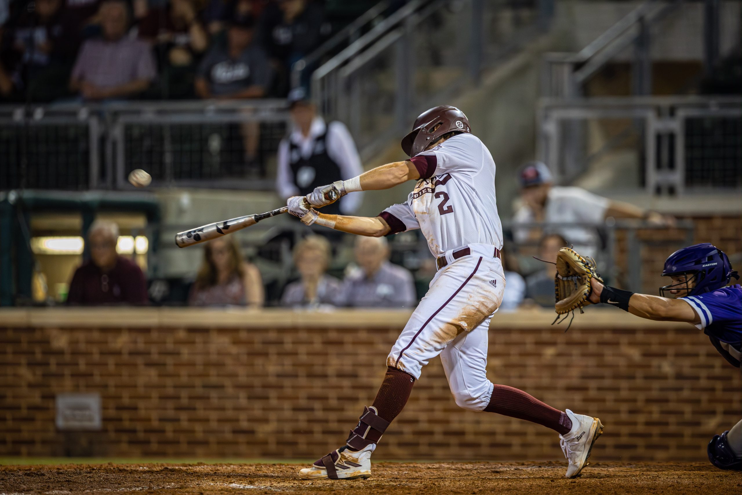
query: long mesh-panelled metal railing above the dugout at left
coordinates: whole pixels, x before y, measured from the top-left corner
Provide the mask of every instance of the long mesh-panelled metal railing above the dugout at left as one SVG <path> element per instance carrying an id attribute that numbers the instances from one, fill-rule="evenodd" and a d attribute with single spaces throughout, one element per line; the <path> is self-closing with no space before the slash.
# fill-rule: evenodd
<path id="1" fill-rule="evenodd" d="M 0 190 L 154 186 L 272 189 L 283 99 L 0 106 Z"/>

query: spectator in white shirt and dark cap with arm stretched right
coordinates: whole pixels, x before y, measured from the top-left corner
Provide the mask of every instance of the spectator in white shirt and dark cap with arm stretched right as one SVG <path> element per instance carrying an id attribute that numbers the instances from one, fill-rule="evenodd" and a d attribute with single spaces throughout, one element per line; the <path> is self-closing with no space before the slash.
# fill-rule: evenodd
<path id="1" fill-rule="evenodd" d="M 559 226 L 559 223 L 592 223 L 600 226 L 608 217 L 640 218 L 654 225 L 674 223 L 671 217 L 649 212 L 622 201 L 609 200 L 579 187 L 554 186 L 551 172 L 541 162 L 529 162 L 518 173 L 522 206 L 513 215 L 513 237 L 517 243 L 535 240 L 542 232 L 521 227 L 519 223 L 547 223 L 546 232 L 559 232 L 574 243 L 582 255 L 594 257 L 600 240 L 595 229 L 589 227 Z"/>

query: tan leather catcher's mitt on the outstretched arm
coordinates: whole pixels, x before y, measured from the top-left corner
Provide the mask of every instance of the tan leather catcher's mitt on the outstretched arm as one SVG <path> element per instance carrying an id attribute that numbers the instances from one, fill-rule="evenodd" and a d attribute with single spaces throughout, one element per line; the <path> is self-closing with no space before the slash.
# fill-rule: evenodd
<path id="1" fill-rule="evenodd" d="M 591 304 L 588 298 L 592 292 L 592 279 L 596 278 L 603 283 L 595 268 L 595 260 L 582 258 L 574 249 L 566 247 L 559 249 L 557 275 L 554 277 L 554 289 L 557 292 L 557 304 L 554 305 L 554 309 L 557 310 L 557 314 L 565 315 L 575 309 L 582 312 L 582 306 Z"/>

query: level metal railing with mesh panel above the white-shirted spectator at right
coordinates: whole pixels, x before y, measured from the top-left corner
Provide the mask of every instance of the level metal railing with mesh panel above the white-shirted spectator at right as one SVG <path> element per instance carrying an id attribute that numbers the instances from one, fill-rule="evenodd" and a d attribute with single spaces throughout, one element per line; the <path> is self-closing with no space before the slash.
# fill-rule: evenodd
<path id="1" fill-rule="evenodd" d="M 742 187 L 742 97 L 544 98 L 538 121 L 537 155 L 557 183 L 608 163 L 601 160 L 616 163 L 618 151 L 634 189 Z"/>

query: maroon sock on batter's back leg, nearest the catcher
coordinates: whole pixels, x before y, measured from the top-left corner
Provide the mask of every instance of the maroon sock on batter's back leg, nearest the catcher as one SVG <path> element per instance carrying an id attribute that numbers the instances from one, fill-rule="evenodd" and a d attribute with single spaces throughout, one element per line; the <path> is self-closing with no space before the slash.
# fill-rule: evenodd
<path id="1" fill-rule="evenodd" d="M 562 435 L 572 429 L 572 420 L 566 413 L 507 385 L 495 385 L 485 411 L 543 424 Z"/>

